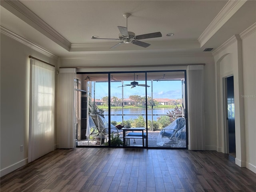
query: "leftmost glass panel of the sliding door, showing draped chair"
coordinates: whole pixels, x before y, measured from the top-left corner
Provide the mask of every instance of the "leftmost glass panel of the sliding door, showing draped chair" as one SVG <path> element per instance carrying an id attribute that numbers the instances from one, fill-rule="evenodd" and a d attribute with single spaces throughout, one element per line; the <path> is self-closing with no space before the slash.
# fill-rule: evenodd
<path id="1" fill-rule="evenodd" d="M 87 145 L 108 141 L 108 74 L 84 74 L 87 87 Z"/>

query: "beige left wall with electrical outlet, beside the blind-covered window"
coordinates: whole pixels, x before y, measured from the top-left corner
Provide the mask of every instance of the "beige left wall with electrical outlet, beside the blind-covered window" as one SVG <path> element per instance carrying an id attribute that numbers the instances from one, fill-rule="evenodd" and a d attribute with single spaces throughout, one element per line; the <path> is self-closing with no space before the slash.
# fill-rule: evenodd
<path id="1" fill-rule="evenodd" d="M 1 176 L 27 163 L 29 55 L 54 65 L 57 63 L 56 59 L 1 33 Z M 21 145 L 24 146 L 22 152 Z"/>

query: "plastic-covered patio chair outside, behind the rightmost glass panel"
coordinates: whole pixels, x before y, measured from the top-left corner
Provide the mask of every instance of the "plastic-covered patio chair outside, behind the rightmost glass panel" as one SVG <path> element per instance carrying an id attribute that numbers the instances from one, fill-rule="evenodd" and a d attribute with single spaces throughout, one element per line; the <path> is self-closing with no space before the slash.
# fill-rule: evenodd
<path id="1" fill-rule="evenodd" d="M 184 136 L 186 140 L 186 119 L 180 117 L 160 131 L 156 140 L 156 145 L 177 147 L 178 138 L 184 139 Z"/>

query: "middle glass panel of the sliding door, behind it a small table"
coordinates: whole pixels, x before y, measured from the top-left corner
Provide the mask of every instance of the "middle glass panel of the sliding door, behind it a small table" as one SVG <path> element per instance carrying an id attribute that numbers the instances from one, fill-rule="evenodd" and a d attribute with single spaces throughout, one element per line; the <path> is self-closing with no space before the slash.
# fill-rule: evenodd
<path id="1" fill-rule="evenodd" d="M 146 129 L 145 73 L 112 73 L 110 76 L 111 123 L 118 128 Z M 123 130 L 119 133 L 120 138 L 124 138 Z M 130 137 L 127 146 L 142 146 L 141 131 L 127 130 L 125 134 Z M 141 138 L 137 138 L 140 134 Z"/>

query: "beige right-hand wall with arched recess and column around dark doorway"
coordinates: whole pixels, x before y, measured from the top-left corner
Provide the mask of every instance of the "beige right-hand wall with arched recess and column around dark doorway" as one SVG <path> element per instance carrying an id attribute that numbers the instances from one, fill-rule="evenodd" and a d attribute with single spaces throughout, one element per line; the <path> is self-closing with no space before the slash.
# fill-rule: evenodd
<path id="1" fill-rule="evenodd" d="M 218 151 L 227 152 L 223 78 L 234 75 L 236 164 L 256 172 L 256 24 L 213 54 L 216 66 Z"/>

